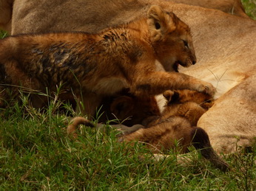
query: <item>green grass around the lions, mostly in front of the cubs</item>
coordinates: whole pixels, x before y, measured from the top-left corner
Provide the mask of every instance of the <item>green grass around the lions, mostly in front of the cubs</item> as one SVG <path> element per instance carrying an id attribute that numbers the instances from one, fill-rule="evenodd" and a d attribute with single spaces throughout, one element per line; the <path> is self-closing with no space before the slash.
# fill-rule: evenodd
<path id="1" fill-rule="evenodd" d="M 253 6 L 246 13 L 255 18 Z M 196 152 L 185 166 L 172 152 L 155 162 L 141 157 L 150 153 L 143 146 L 119 143 L 111 128 L 81 128 L 75 141 L 58 103 L 40 113 L 22 100 L 0 111 L 0 190 L 256 190 L 256 144 L 252 153 L 224 156 L 227 173 Z"/>

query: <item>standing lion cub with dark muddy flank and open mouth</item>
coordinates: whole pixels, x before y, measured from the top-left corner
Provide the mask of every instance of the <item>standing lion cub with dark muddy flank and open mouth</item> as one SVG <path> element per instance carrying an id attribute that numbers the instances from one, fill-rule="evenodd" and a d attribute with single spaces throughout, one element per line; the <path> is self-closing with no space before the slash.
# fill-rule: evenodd
<path id="1" fill-rule="evenodd" d="M 175 14 L 152 5 L 146 17 L 98 34 L 4 38 L 0 41 L 0 97 L 6 100 L 18 87 L 30 93 L 54 92 L 61 85 L 63 99 L 74 94 L 83 103 L 78 105 L 83 114 L 93 115 L 102 97 L 123 88 L 138 96 L 170 88 L 214 94 L 210 83 L 177 73 L 178 64 L 188 67 L 195 62 L 189 27 Z M 41 107 L 45 98 L 31 94 L 30 100 Z"/>

